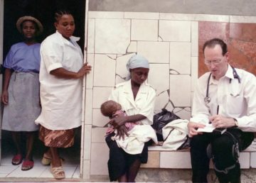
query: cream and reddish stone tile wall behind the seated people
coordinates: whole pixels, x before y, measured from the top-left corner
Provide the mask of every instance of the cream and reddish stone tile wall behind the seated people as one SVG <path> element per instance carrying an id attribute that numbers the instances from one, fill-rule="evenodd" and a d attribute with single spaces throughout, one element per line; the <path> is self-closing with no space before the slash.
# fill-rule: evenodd
<path id="1" fill-rule="evenodd" d="M 107 175 L 108 148 L 102 126 L 108 119 L 101 115 L 100 105 L 112 87 L 124 81 L 129 57 L 138 53 L 150 62 L 148 82 L 156 88 L 155 111 L 166 108 L 186 119 L 191 116 L 194 83 L 206 71 L 200 63 L 203 40 L 229 38 L 232 45 L 240 45 L 238 50 L 246 50 L 245 55 L 250 52 L 255 59 L 255 36 L 247 38 L 250 32 L 235 31 L 255 28 L 255 17 L 89 11 L 87 18 L 87 62 L 92 72 L 85 84 L 83 177 Z M 237 25 L 242 29 L 231 28 Z M 250 40 L 250 46 L 243 46 L 244 40 Z M 247 63 L 255 65 L 255 60 Z"/>

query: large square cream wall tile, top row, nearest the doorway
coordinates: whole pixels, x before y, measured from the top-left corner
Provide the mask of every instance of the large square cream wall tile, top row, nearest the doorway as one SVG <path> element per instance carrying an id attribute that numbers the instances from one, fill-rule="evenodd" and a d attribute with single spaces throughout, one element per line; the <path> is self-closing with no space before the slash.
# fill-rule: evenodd
<path id="1" fill-rule="evenodd" d="M 130 43 L 128 19 L 95 20 L 95 53 L 124 54 Z"/>

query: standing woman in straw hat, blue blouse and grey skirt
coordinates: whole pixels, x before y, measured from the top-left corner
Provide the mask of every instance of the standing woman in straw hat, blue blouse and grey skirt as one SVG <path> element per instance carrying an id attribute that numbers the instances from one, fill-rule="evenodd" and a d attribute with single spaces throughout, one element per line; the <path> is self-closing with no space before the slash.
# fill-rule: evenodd
<path id="1" fill-rule="evenodd" d="M 33 141 L 38 126 L 34 123 L 41 111 L 39 101 L 40 44 L 36 36 L 43 32 L 43 26 L 32 16 L 18 18 L 18 32 L 24 41 L 11 46 L 4 60 L 4 86 L 1 101 L 4 103 L 2 129 L 11 131 L 16 155 L 12 165 L 19 165 L 23 160 L 21 135 L 26 135 L 26 155 L 21 170 L 33 167 Z"/>

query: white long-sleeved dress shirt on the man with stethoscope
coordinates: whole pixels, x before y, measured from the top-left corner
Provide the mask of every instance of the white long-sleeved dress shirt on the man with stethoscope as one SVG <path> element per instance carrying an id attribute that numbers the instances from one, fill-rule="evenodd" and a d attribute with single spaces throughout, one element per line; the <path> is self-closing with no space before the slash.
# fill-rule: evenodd
<path id="1" fill-rule="evenodd" d="M 207 104 L 206 89 L 210 72 L 198 79 L 193 96 L 191 121 L 208 123 L 209 116 L 218 114 L 238 120 L 238 128 L 242 131 L 256 131 L 256 78 L 245 70 L 235 69 L 241 83 L 233 76 L 233 69 L 228 65 L 228 71 L 219 80 L 210 77 L 210 102 Z M 230 82 L 231 79 L 231 82 Z"/>

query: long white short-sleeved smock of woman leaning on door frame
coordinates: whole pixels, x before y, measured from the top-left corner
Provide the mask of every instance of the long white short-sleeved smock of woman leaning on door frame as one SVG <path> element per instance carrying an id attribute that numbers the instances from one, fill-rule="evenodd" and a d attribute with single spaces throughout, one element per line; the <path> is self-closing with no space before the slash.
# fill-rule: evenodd
<path id="1" fill-rule="evenodd" d="M 82 67 L 82 51 L 76 43 L 56 31 L 41 44 L 41 115 L 36 119 L 50 130 L 67 130 L 81 125 L 82 80 L 57 78 L 50 71 L 63 67 L 78 72 Z M 72 43 L 71 43 L 72 42 Z"/>

